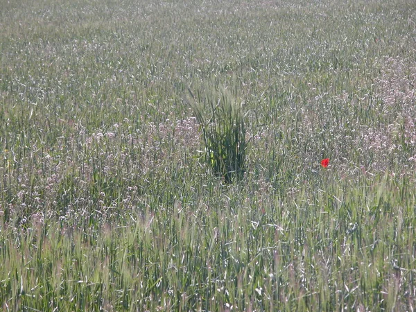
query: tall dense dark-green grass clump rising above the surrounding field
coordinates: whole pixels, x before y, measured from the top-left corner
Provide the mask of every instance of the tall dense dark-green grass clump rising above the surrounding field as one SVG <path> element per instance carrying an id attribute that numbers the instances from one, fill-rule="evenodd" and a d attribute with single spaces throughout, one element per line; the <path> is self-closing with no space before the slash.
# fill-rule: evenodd
<path id="1" fill-rule="evenodd" d="M 248 142 L 241 105 L 226 89 L 191 96 L 191 107 L 202 128 L 205 160 L 226 184 L 241 180 L 245 171 Z"/>

